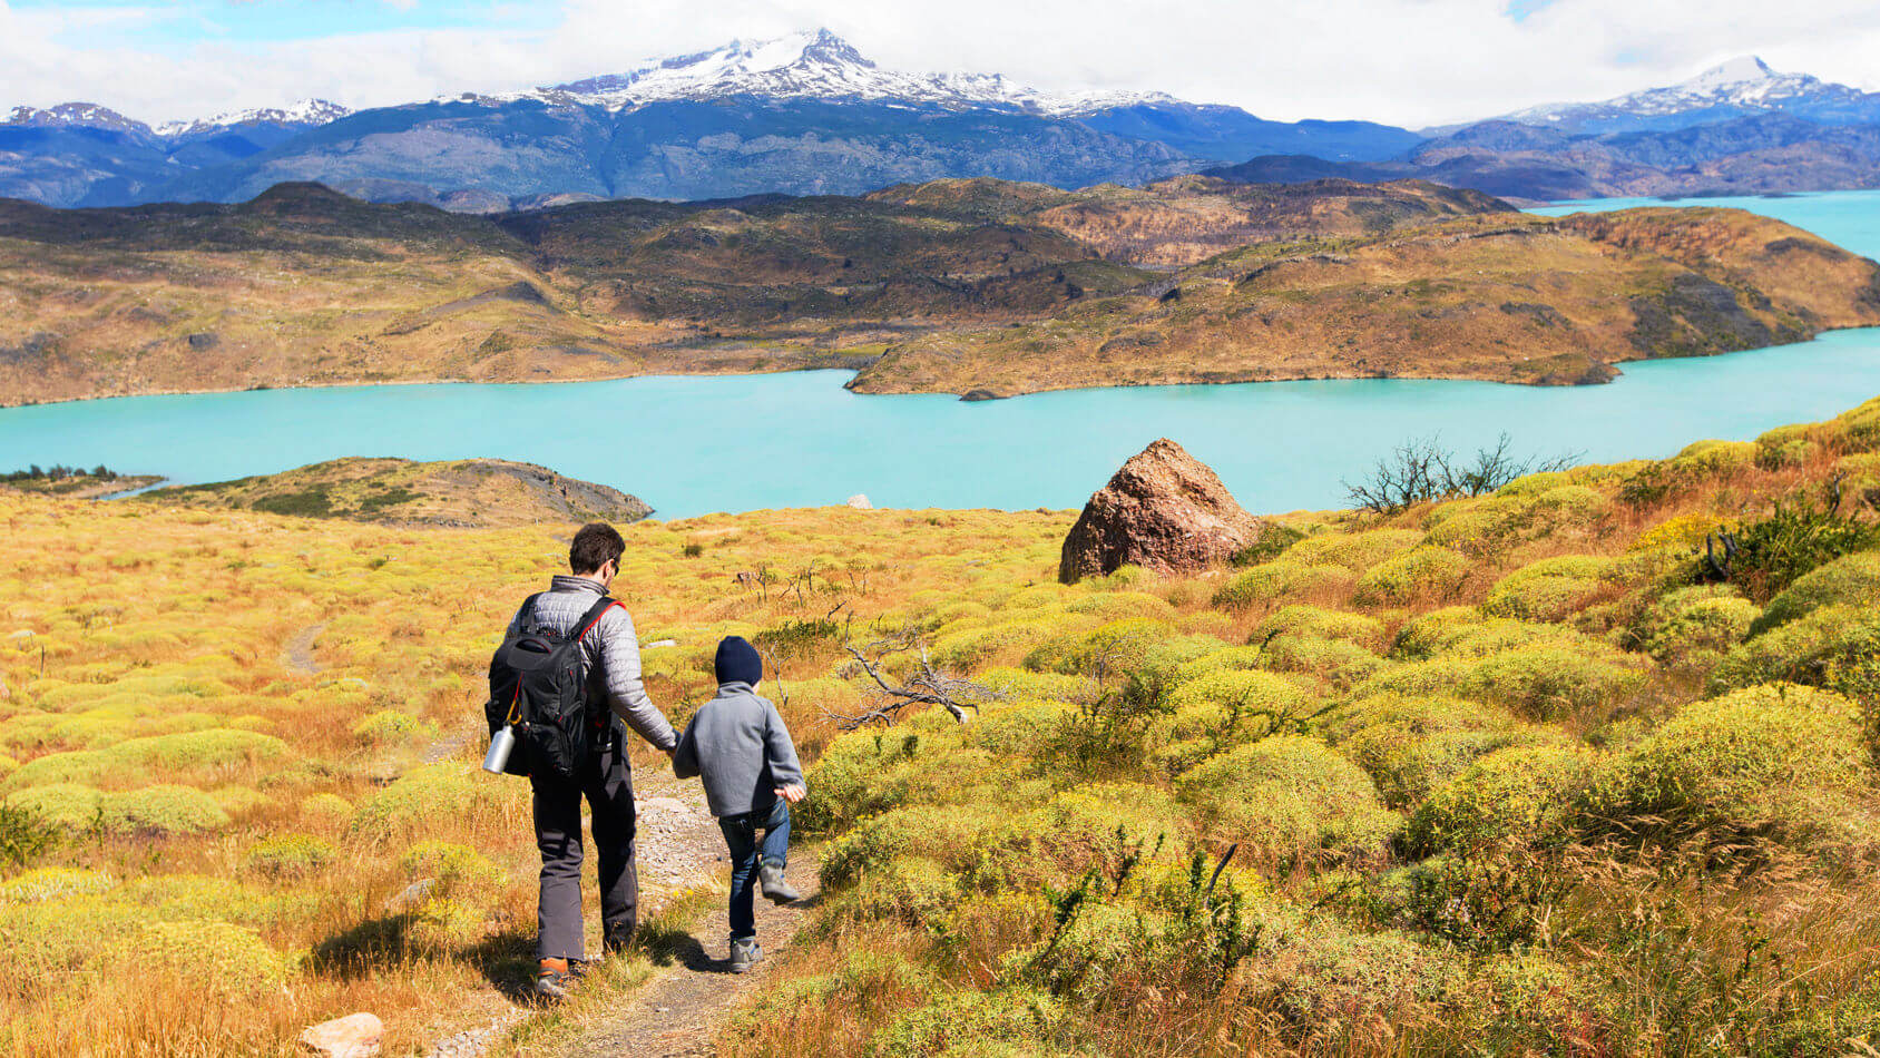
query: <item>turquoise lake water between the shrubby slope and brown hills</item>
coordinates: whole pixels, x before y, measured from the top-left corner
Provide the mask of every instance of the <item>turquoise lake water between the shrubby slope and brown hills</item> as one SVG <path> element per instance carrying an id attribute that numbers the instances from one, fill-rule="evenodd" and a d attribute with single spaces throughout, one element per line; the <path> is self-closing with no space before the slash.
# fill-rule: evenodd
<path id="1" fill-rule="evenodd" d="M 1880 192 L 1684 199 L 1777 216 L 1880 256 Z M 1572 203 L 1536 212 L 1662 205 Z M 1880 395 L 1880 329 L 1722 357 L 1622 365 L 1611 385 L 1273 381 L 953 397 L 857 397 L 846 372 L 536 385 L 370 385 L 128 397 L 0 410 L 0 470 L 103 462 L 175 483 L 271 474 L 342 455 L 498 457 L 603 481 L 658 517 L 840 504 L 1075 507 L 1167 436 L 1252 511 L 1333 507 L 1393 445 L 1664 457 L 1748 440 Z"/>

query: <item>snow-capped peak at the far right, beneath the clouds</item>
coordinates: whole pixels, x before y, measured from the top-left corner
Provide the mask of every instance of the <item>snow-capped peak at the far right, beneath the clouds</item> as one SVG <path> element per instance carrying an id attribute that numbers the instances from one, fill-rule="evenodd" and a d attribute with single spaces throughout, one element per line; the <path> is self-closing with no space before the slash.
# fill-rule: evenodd
<path id="1" fill-rule="evenodd" d="M 1833 85 L 1807 73 L 1778 73 L 1752 54 L 1713 66 L 1664 88 L 1645 88 L 1598 103 L 1547 103 L 1498 120 L 1570 133 L 1669 130 L 1739 117 L 1780 113 L 1807 120 L 1880 120 L 1880 94 Z"/>

